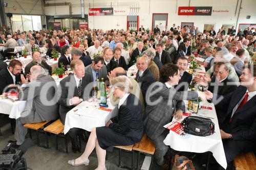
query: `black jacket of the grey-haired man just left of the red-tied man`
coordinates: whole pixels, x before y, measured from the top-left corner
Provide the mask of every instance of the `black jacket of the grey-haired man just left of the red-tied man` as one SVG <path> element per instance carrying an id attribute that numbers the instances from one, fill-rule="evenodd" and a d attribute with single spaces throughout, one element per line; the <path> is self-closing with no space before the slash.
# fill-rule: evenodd
<path id="1" fill-rule="evenodd" d="M 211 82 L 208 86 L 208 90 L 212 93 L 214 93 L 214 92 L 216 93 L 216 91 L 214 90 L 215 86 L 217 86 L 215 79 L 216 79 L 216 77 L 212 76 Z M 224 81 L 222 81 L 218 85 L 217 94 L 219 97 L 222 96 L 225 98 L 225 96 L 229 96 L 230 93 L 233 93 L 237 89 L 237 87 L 238 87 L 237 84 L 230 85 L 230 83 L 236 83 L 236 82 L 233 82 L 232 79 L 226 78 Z M 239 82 L 237 82 L 237 83 L 239 83 Z M 222 124 L 226 118 L 228 105 L 229 105 L 229 103 L 225 104 L 223 102 L 220 102 L 215 105 L 216 113 L 218 116 L 218 121 L 220 124 Z"/>

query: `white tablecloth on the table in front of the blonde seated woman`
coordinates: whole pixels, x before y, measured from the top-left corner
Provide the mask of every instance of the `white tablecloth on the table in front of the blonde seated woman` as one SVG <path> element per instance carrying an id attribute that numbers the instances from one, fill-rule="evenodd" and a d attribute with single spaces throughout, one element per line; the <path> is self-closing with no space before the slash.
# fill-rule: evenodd
<path id="1" fill-rule="evenodd" d="M 95 107 L 96 102 L 84 101 L 70 110 L 66 115 L 64 134 L 71 128 L 92 131 L 93 128 L 105 126 L 106 122 L 116 115 L 116 112 L 100 110 Z M 109 108 L 114 109 L 108 102 Z M 77 110 L 78 109 L 78 110 Z M 77 110 L 74 112 L 74 110 Z"/>

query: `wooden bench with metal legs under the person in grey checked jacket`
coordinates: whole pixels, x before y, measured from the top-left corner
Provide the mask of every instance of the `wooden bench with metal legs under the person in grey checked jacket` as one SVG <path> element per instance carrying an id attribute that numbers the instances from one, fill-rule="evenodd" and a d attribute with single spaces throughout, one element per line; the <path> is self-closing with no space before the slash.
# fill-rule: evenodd
<path id="1" fill-rule="evenodd" d="M 139 166 L 139 159 L 140 159 L 141 152 L 152 155 L 151 164 L 150 164 L 150 169 L 151 169 L 154 162 L 154 153 L 156 151 L 156 147 L 154 143 L 151 141 L 151 139 L 146 134 L 144 134 L 141 141 L 134 144 L 133 150 L 138 151 L 137 169 Z"/>

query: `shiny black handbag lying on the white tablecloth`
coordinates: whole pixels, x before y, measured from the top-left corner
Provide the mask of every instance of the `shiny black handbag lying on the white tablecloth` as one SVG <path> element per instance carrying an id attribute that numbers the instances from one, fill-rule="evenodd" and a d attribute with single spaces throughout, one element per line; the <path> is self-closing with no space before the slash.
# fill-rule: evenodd
<path id="1" fill-rule="evenodd" d="M 209 118 L 188 116 L 180 123 L 180 129 L 196 136 L 209 136 L 214 133 L 215 124 Z"/>

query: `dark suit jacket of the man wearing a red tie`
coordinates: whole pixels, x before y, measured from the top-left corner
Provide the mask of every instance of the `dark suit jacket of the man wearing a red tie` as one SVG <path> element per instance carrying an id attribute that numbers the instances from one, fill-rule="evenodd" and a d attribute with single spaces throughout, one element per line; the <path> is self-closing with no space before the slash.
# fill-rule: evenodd
<path id="1" fill-rule="evenodd" d="M 247 88 L 239 86 L 233 93 L 226 95 L 221 101 L 229 104 L 224 123 L 221 125 L 227 133 L 231 133 L 233 140 L 237 141 L 256 141 L 256 95 L 253 96 L 244 106 L 237 110 L 229 124 L 233 108 L 243 98 Z M 246 146 L 244 146 L 246 147 Z M 254 145 L 255 147 L 255 145 Z"/>

